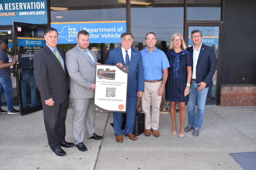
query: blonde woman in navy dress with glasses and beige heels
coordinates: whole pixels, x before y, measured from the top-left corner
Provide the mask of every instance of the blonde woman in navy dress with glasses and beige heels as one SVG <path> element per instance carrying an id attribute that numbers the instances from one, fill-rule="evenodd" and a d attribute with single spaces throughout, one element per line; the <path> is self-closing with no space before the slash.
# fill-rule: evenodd
<path id="1" fill-rule="evenodd" d="M 170 50 L 167 52 L 170 67 L 166 82 L 165 100 L 170 101 L 170 112 L 173 122 L 172 134 L 177 134 L 176 103 L 179 102 L 180 134 L 185 136 L 185 102 L 189 99 L 189 86 L 192 77 L 192 55 L 186 50 L 186 44 L 180 33 L 175 33 L 171 39 Z"/>

